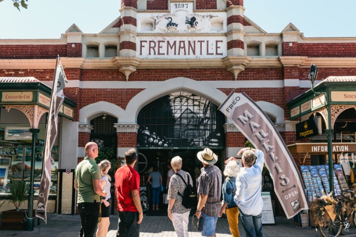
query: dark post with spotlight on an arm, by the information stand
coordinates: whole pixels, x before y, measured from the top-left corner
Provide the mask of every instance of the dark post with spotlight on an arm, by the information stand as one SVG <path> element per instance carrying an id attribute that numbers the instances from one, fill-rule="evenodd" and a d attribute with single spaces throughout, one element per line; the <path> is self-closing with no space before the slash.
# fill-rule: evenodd
<path id="1" fill-rule="evenodd" d="M 314 92 L 314 95 L 316 94 L 325 94 L 325 101 L 327 100 L 327 94 L 325 92 L 315 92 L 314 91 L 314 82 L 316 80 L 316 77 L 318 75 L 318 67 L 315 66 L 314 64 L 310 65 L 310 70 L 309 70 L 309 75 L 308 79 L 311 82 L 311 91 Z M 325 133 L 327 134 L 327 139 L 328 139 L 328 163 L 329 163 L 329 188 L 330 192 L 334 191 L 334 179 L 333 179 L 333 167 L 332 167 L 332 135 L 334 134 L 334 129 L 331 129 L 331 108 L 330 104 L 326 102 L 326 107 L 327 107 L 327 119 L 328 119 L 328 124 L 327 124 L 327 129 L 325 129 Z"/>

